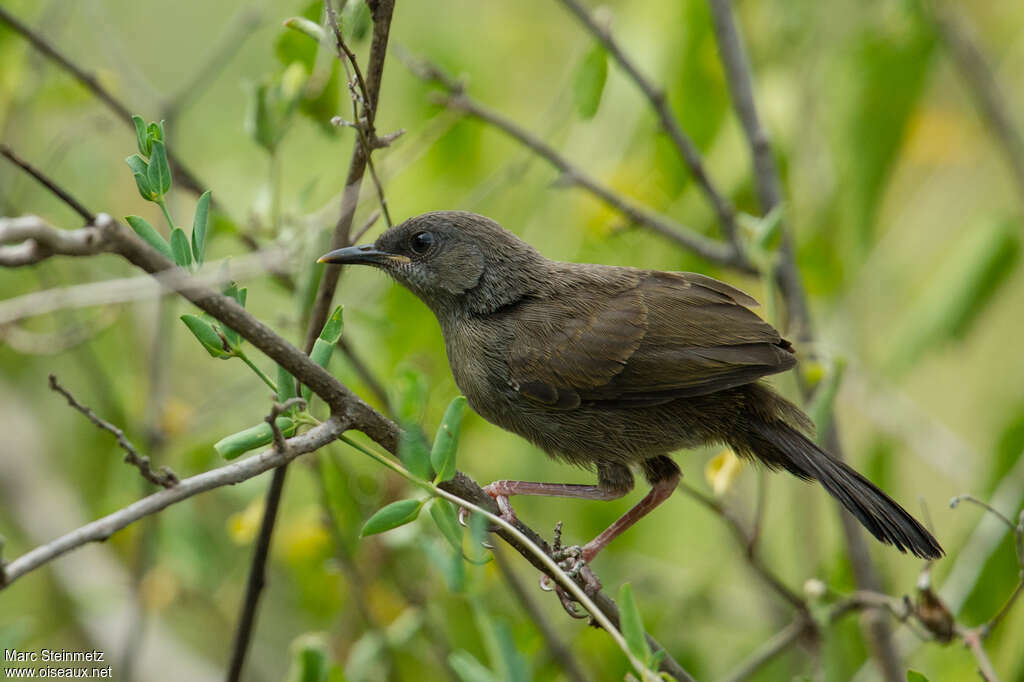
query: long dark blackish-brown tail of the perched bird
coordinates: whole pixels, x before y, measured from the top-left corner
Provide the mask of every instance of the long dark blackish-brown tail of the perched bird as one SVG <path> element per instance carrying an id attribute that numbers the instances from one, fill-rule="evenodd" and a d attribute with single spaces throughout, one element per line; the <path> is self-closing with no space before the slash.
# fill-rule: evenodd
<path id="1" fill-rule="evenodd" d="M 774 394 L 772 397 L 782 400 Z M 785 406 L 786 412 L 797 410 L 787 402 Z M 818 481 L 872 536 L 901 552 L 909 550 L 923 559 L 943 555 L 938 541 L 905 509 L 786 422 L 760 415 L 745 422 L 746 428 L 730 443 L 737 454 L 754 456 L 771 468 L 783 468 L 800 478 Z"/>

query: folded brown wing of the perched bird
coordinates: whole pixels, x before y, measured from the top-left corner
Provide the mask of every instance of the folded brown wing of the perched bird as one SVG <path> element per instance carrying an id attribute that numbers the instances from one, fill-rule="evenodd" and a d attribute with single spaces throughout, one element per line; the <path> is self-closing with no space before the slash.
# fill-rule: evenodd
<path id="1" fill-rule="evenodd" d="M 558 410 L 642 407 L 713 393 L 788 370 L 792 346 L 743 292 L 692 272 L 638 272 L 608 297 L 526 301 L 511 385 Z"/>

